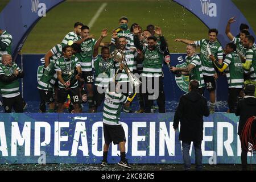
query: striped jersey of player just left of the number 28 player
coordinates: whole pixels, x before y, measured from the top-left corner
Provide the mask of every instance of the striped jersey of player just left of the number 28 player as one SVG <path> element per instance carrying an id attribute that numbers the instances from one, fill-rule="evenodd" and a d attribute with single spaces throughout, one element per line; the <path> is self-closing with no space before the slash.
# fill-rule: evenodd
<path id="1" fill-rule="evenodd" d="M 199 88 L 204 87 L 204 76 L 200 57 L 197 55 L 191 57 L 186 56 L 185 60 L 187 65 L 193 64 L 195 66 L 189 73 L 189 80 L 197 80 L 199 82 Z"/>

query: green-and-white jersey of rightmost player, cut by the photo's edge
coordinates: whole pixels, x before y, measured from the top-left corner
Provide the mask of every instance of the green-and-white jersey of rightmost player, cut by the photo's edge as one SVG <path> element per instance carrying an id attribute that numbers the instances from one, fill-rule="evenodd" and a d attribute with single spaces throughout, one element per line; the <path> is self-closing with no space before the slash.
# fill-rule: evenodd
<path id="1" fill-rule="evenodd" d="M 250 72 L 250 80 L 256 81 L 256 47 L 253 46 L 251 48 L 248 48 L 245 53 L 245 59 L 246 61 L 251 61 L 251 67 L 250 70 L 245 70 L 245 72 Z"/>

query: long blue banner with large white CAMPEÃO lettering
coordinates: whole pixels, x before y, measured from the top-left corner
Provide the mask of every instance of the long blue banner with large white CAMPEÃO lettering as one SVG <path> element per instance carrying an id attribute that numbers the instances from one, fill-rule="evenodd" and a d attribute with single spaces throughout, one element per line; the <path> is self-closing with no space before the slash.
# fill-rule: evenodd
<path id="1" fill-rule="evenodd" d="M 130 163 L 183 163 L 174 113 L 121 114 Z M 241 163 L 238 118 L 211 114 L 204 118 L 204 164 Z M 102 113 L 1 114 L 0 163 L 101 163 L 104 134 Z M 195 152 L 191 148 L 192 163 Z M 256 158 L 252 157 L 256 164 Z M 109 148 L 109 163 L 119 162 L 117 145 Z M 250 163 L 250 153 L 248 156 Z"/>

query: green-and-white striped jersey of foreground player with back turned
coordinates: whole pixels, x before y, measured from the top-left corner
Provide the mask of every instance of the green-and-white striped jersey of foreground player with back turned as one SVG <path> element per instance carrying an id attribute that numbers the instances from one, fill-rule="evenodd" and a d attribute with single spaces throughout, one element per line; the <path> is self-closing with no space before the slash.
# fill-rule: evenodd
<path id="1" fill-rule="evenodd" d="M 120 113 L 125 102 L 127 102 L 126 96 L 121 93 L 109 92 L 107 89 L 103 108 L 103 122 L 107 125 L 121 125 Z"/>

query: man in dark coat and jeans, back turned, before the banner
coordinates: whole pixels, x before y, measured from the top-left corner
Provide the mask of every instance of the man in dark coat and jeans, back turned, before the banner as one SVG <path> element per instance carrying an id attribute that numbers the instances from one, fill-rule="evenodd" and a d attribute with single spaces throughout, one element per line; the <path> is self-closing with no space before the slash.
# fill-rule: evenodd
<path id="1" fill-rule="evenodd" d="M 196 169 L 201 170 L 202 151 L 201 142 L 203 140 L 203 116 L 209 116 L 207 100 L 198 92 L 199 82 L 191 80 L 188 86 L 189 93 L 180 97 L 179 105 L 174 115 L 174 130 L 177 131 L 180 122 L 179 140 L 182 141 L 182 154 L 184 169 L 191 169 L 191 158 L 189 149 L 191 142 L 195 147 Z"/>

